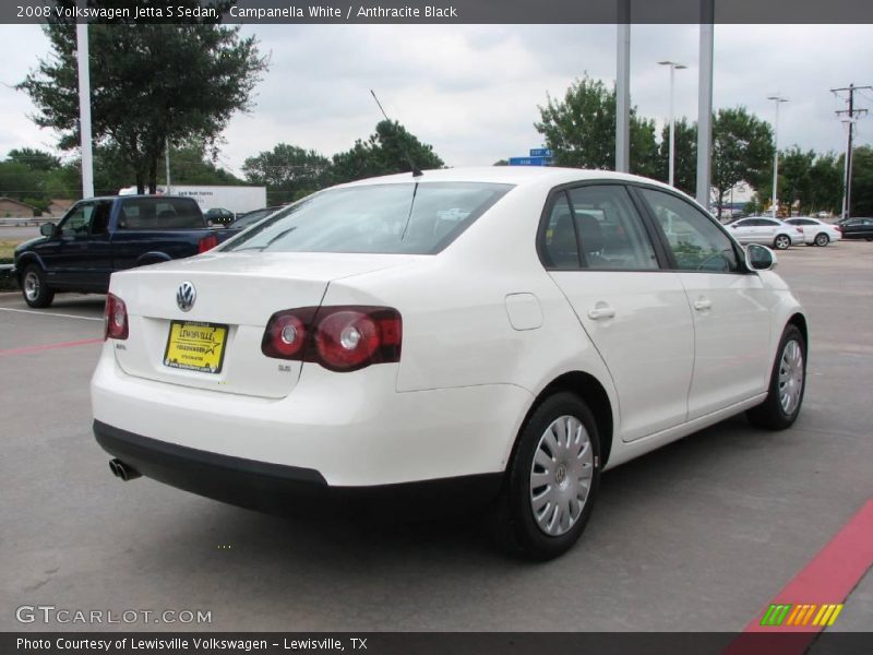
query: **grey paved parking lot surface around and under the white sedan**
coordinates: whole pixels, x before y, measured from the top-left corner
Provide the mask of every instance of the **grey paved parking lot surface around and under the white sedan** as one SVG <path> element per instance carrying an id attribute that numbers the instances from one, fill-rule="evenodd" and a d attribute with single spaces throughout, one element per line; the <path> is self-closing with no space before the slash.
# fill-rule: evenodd
<path id="1" fill-rule="evenodd" d="M 873 497 L 873 243 L 778 257 L 812 334 L 794 427 L 740 416 L 608 473 L 579 544 L 536 565 L 476 516 L 278 519 L 120 483 L 91 431 L 103 298 L 0 294 L 0 630 L 95 628 L 16 621 L 39 604 L 212 612 L 97 629 L 742 630 Z M 834 629 L 871 618 L 868 572 Z"/>

